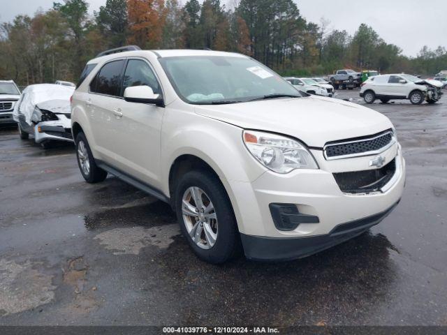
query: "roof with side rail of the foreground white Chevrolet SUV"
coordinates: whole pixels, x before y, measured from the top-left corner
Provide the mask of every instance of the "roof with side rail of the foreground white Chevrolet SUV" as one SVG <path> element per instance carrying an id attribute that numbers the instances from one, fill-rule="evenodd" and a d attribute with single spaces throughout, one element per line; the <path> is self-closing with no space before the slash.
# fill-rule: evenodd
<path id="1" fill-rule="evenodd" d="M 190 50 L 190 49 L 175 49 L 175 50 L 135 50 L 135 51 L 125 51 L 117 52 L 115 54 L 108 54 L 101 57 L 96 57 L 91 59 L 87 64 L 94 63 L 97 59 L 114 59 L 119 57 L 131 57 L 131 56 L 142 56 L 147 54 L 147 52 L 152 52 L 158 58 L 165 57 L 185 57 L 185 56 L 225 56 L 225 57 L 248 57 L 244 54 L 237 54 L 235 52 L 223 52 L 223 51 L 212 51 L 212 50 Z"/>

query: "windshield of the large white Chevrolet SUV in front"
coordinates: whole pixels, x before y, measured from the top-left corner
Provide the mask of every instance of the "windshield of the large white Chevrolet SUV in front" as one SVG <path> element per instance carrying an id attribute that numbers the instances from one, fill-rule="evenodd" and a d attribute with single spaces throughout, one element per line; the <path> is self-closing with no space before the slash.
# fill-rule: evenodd
<path id="1" fill-rule="evenodd" d="M 272 70 L 245 57 L 167 57 L 160 63 L 186 103 L 242 103 L 272 95 L 300 96 Z"/>

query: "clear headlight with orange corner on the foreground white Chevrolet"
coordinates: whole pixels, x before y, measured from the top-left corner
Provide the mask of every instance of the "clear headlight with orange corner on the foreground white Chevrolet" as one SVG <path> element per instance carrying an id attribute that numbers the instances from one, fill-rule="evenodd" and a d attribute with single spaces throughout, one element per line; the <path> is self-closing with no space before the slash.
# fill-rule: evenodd
<path id="1" fill-rule="evenodd" d="M 244 131 L 243 139 L 254 158 L 274 172 L 318 169 L 314 157 L 305 145 L 290 137 L 261 131 Z"/>

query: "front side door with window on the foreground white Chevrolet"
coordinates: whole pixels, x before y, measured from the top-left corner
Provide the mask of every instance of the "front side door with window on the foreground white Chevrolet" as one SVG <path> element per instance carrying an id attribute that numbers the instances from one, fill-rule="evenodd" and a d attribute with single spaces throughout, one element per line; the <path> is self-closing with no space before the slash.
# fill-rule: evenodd
<path id="1" fill-rule="evenodd" d="M 126 87 L 147 85 L 154 94 L 163 92 L 152 66 L 146 59 L 128 59 L 120 96 Z M 117 168 L 133 177 L 160 188 L 160 134 L 165 108 L 145 103 L 117 100 L 115 122 L 111 129 L 115 137 L 114 151 Z"/>

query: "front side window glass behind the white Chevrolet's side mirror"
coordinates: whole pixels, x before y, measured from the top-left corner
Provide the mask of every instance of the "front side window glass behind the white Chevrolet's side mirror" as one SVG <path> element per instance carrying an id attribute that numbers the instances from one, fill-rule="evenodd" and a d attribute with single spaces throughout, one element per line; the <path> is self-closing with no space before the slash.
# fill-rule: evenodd
<path id="1" fill-rule="evenodd" d="M 150 66 L 145 61 L 131 59 L 124 73 L 122 94 L 127 87 L 142 85 L 152 88 L 155 94 L 161 94 L 159 82 Z"/>

